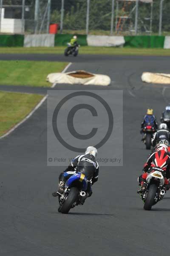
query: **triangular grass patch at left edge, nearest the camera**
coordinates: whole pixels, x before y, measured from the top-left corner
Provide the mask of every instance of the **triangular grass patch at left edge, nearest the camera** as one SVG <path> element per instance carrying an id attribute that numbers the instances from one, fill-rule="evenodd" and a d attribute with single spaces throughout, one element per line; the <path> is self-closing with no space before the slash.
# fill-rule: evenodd
<path id="1" fill-rule="evenodd" d="M 0 136 L 26 117 L 42 98 L 37 94 L 0 91 Z"/>

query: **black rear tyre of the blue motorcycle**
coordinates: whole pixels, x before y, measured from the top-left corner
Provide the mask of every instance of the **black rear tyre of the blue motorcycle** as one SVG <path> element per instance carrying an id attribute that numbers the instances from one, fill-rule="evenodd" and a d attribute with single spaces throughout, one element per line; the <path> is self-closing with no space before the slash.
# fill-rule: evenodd
<path id="1" fill-rule="evenodd" d="M 79 190 L 75 187 L 72 187 L 64 203 L 58 208 L 58 212 L 67 214 L 69 210 L 72 208 L 73 204 L 77 201 L 78 195 Z"/>

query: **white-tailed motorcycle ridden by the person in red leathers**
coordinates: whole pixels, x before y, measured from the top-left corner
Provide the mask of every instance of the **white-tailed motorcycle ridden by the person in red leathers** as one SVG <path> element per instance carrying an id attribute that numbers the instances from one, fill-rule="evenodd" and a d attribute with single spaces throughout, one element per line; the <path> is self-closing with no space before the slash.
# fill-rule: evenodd
<path id="1" fill-rule="evenodd" d="M 144 203 L 145 210 L 151 210 L 152 206 L 164 198 L 164 177 L 166 173 L 159 167 L 152 167 L 152 171 L 146 178 L 147 187 L 140 197 Z"/>

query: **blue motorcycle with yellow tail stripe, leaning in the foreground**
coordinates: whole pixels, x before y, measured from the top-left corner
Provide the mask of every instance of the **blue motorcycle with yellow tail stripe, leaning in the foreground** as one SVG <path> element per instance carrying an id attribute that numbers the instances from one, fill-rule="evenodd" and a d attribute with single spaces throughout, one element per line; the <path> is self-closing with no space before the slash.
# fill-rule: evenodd
<path id="1" fill-rule="evenodd" d="M 65 190 L 59 195 L 58 212 L 68 213 L 76 205 L 83 205 L 87 198 L 88 180 L 81 172 L 75 172 L 65 183 Z"/>

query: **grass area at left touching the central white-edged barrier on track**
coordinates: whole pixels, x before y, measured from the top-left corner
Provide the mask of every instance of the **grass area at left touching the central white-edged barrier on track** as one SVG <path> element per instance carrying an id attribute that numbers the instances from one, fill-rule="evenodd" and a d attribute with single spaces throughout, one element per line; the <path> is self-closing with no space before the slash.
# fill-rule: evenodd
<path id="1" fill-rule="evenodd" d="M 61 72 L 67 62 L 0 61 L 0 84 L 51 87 L 49 73 Z"/>

